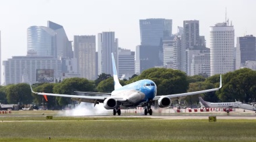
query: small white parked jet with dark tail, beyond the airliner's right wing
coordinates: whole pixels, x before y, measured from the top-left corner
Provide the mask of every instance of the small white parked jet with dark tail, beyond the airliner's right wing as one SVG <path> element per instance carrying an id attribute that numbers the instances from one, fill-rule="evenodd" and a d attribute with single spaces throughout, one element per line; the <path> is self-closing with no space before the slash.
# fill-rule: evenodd
<path id="1" fill-rule="evenodd" d="M 232 109 L 238 108 L 238 104 L 236 102 L 206 102 L 199 96 L 199 103 L 201 107 L 205 108 L 222 108 L 222 109 Z"/>

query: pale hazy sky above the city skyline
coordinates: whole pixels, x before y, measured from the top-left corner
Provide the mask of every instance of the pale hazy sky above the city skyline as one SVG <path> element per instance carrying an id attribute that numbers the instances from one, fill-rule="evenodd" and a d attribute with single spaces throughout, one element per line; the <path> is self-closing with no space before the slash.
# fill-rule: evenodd
<path id="1" fill-rule="evenodd" d="M 119 46 L 135 51 L 140 44 L 139 19 L 172 19 L 172 33 L 183 27 L 183 20 L 197 19 L 209 48 L 210 26 L 224 21 L 225 7 L 236 37 L 256 36 L 255 0 L 2 0 L 1 59 L 25 56 L 27 28 L 47 26 L 49 20 L 63 25 L 69 40 L 115 31 Z"/>

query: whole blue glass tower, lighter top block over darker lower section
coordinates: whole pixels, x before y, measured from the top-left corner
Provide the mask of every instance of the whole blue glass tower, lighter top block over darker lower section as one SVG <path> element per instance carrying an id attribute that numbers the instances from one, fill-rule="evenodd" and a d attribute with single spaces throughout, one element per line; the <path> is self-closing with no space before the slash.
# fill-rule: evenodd
<path id="1" fill-rule="evenodd" d="M 141 46 L 136 48 L 136 54 L 139 53 L 136 55 L 135 65 L 137 74 L 148 68 L 163 66 L 162 41 L 169 39 L 172 35 L 172 19 L 140 19 L 139 29 Z M 151 60 L 153 58 L 150 55 L 156 57 L 154 61 Z M 151 64 L 152 62 L 154 63 Z"/>

